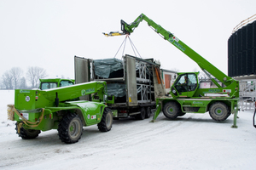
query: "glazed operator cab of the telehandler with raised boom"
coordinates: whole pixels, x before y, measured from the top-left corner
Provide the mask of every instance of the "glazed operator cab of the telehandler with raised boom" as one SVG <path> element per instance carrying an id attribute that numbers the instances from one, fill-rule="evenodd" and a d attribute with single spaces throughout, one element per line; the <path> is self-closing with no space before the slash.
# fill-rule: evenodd
<path id="1" fill-rule="evenodd" d="M 192 97 L 198 87 L 198 74 L 198 72 L 178 73 L 171 88 L 172 97 Z"/>

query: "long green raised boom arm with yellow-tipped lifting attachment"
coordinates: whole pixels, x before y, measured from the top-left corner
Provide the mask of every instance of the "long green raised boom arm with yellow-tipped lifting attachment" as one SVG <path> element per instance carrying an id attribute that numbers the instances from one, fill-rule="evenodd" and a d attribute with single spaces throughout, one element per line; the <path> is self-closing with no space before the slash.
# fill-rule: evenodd
<path id="1" fill-rule="evenodd" d="M 131 25 L 128 25 L 127 23 L 125 23 L 124 20 L 121 20 L 122 32 L 109 32 L 108 34 L 103 34 L 107 37 L 120 36 L 125 34 L 130 35 L 143 20 L 148 22 L 148 26 L 153 27 L 154 31 L 160 34 L 161 37 L 163 37 L 168 42 L 171 42 L 172 45 L 174 45 L 184 54 L 189 56 L 190 59 L 193 59 L 197 63 L 197 65 L 201 67 L 201 70 L 204 71 L 207 74 L 207 76 L 212 79 L 212 82 L 214 82 L 218 88 L 220 88 L 220 85 L 218 84 L 218 82 L 214 80 L 213 77 L 216 77 L 220 82 L 223 82 L 225 86 L 229 86 L 233 82 L 233 79 L 231 77 L 228 77 L 222 71 L 219 71 L 218 68 L 216 68 L 210 62 L 208 62 L 207 59 L 204 59 L 203 57 L 201 57 L 200 54 L 197 54 L 193 49 L 189 48 L 189 46 L 187 46 L 184 42 L 175 37 L 170 31 L 166 31 L 163 27 L 157 25 L 153 20 L 148 19 L 148 17 L 145 14 L 139 15 L 137 19 L 131 23 Z M 213 77 L 211 77 L 210 74 Z"/>

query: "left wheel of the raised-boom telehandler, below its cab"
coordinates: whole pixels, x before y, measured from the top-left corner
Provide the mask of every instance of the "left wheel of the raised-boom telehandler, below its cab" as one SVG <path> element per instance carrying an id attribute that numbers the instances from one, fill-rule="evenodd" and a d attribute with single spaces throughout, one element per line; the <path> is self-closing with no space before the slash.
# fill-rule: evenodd
<path id="1" fill-rule="evenodd" d="M 172 101 L 166 103 L 163 109 L 163 113 L 168 119 L 176 119 L 180 112 L 180 107 Z"/>

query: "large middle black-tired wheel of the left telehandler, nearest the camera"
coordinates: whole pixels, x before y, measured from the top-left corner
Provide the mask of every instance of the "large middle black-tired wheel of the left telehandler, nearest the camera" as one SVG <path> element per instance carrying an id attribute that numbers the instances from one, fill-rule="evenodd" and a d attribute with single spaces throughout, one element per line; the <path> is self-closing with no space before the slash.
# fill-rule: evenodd
<path id="1" fill-rule="evenodd" d="M 58 135 L 62 142 L 73 144 L 79 141 L 83 134 L 83 123 L 76 114 L 63 116 L 58 127 Z"/>

